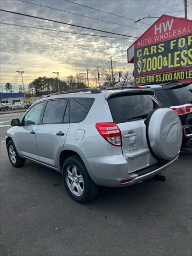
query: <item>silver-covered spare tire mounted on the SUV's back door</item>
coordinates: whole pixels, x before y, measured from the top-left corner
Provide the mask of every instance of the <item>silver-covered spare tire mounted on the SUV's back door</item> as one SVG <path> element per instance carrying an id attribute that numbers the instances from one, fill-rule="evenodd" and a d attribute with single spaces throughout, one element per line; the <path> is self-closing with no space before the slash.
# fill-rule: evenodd
<path id="1" fill-rule="evenodd" d="M 145 123 L 148 146 L 156 159 L 167 161 L 179 154 L 182 125 L 175 111 L 170 108 L 153 109 Z"/>

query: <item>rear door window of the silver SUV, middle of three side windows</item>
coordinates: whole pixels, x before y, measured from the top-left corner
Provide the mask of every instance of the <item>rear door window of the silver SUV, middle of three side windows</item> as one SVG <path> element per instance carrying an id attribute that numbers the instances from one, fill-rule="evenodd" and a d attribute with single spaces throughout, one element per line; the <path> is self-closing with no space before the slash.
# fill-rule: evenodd
<path id="1" fill-rule="evenodd" d="M 47 102 L 43 115 L 43 124 L 62 123 L 68 100 L 51 100 Z"/>

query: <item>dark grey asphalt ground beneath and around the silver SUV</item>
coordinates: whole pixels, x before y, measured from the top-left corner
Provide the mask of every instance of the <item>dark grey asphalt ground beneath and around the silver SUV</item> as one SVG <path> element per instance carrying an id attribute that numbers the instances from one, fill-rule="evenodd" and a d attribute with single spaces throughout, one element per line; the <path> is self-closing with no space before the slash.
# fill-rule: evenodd
<path id="1" fill-rule="evenodd" d="M 89 204 L 73 201 L 61 175 L 26 161 L 9 163 L 0 116 L 1 255 L 191 255 L 192 154 L 181 153 L 165 182 L 100 188 Z"/>

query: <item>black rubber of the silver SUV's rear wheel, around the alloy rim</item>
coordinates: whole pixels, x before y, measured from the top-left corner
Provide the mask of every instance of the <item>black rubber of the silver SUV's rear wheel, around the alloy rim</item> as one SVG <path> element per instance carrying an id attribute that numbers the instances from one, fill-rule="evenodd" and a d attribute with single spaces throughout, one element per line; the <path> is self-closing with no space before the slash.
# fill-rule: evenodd
<path id="1" fill-rule="evenodd" d="M 67 174 L 68 174 L 68 167 L 69 166 L 76 166 L 78 172 L 83 177 L 83 194 L 82 195 L 74 195 L 71 192 L 68 183 L 67 183 Z M 98 194 L 98 186 L 92 181 L 89 173 L 86 170 L 86 167 L 78 156 L 71 156 L 66 159 L 65 163 L 62 166 L 62 179 L 63 183 L 65 184 L 66 190 L 68 194 L 77 202 L 79 203 L 87 203 L 91 201 L 95 196 Z"/>

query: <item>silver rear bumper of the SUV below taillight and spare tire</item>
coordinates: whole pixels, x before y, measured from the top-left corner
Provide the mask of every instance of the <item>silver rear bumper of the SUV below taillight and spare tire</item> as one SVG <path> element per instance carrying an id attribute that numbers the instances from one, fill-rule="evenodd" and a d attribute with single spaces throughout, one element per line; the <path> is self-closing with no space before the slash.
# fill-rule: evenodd
<path id="1" fill-rule="evenodd" d="M 92 180 L 99 186 L 125 187 L 151 178 L 172 164 L 176 159 L 166 163 L 158 163 L 145 169 L 128 173 L 127 162 L 123 155 L 99 156 L 85 158 L 84 163 Z M 132 179 L 121 183 L 122 180 Z"/>

